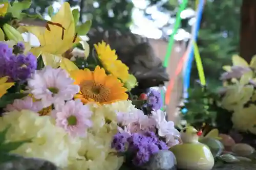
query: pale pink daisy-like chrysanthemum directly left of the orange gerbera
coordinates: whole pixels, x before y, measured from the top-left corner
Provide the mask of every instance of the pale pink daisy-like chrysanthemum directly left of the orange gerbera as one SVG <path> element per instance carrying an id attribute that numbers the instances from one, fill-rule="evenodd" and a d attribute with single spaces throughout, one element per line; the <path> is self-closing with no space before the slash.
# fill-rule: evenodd
<path id="1" fill-rule="evenodd" d="M 35 99 L 40 99 L 44 107 L 49 107 L 54 103 L 71 100 L 79 92 L 79 86 L 73 82 L 65 70 L 46 66 L 37 70 L 28 80 L 28 88 Z"/>

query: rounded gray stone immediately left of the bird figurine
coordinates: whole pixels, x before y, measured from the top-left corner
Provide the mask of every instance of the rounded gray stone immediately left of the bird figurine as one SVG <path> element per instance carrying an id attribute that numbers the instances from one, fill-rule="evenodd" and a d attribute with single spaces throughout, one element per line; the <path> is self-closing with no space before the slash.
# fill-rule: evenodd
<path id="1" fill-rule="evenodd" d="M 148 163 L 147 170 L 176 170 L 177 161 L 170 151 L 159 151 L 157 154 L 152 156 Z"/>

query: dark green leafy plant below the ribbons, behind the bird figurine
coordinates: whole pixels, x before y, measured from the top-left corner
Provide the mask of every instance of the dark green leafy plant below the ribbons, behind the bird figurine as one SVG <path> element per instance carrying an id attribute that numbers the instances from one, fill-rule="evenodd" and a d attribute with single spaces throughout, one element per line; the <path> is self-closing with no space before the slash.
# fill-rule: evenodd
<path id="1" fill-rule="evenodd" d="M 217 128 L 221 133 L 228 133 L 232 129 L 232 112 L 220 107 L 221 95 L 218 88 L 195 86 L 190 88 L 189 98 L 185 106 L 187 112 L 182 114 L 183 119 L 195 127 L 206 123 L 212 128 Z"/>

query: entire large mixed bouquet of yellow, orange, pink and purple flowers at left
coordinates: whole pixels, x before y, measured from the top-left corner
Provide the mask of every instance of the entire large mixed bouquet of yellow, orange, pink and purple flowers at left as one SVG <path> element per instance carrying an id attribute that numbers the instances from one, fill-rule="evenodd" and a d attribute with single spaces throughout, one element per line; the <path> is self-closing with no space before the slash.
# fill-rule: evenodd
<path id="1" fill-rule="evenodd" d="M 0 131 L 5 142 L 19 143 L 10 154 L 63 169 L 114 170 L 144 166 L 152 154 L 179 143 L 174 123 L 160 110 L 159 92 L 145 94 L 145 115 L 128 100 L 136 78 L 115 50 L 102 41 L 89 55 L 80 36 L 91 21 L 77 25 L 78 13 L 64 3 L 51 21 L 30 23 L 22 12 L 30 4 L 0 8 L 1 19 L 10 18 L 0 25 Z M 25 42 L 25 32 L 40 46 Z M 79 43 L 87 58 L 73 62 L 63 55 Z"/>

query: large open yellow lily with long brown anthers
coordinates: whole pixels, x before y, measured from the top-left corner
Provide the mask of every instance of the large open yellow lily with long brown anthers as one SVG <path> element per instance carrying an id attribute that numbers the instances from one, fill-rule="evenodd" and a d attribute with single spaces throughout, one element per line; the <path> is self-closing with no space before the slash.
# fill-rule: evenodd
<path id="1" fill-rule="evenodd" d="M 73 62 L 61 56 L 74 44 L 81 41 L 75 32 L 74 17 L 69 3 L 64 3 L 61 6 L 56 15 L 52 17 L 51 22 L 58 23 L 59 26 L 49 23 L 47 28 L 35 26 L 24 27 L 28 32 L 34 34 L 40 42 L 40 46 L 32 48 L 31 52 L 36 56 L 41 55 L 45 65 L 56 68 L 61 65 L 61 67 L 63 65 L 67 67 L 68 64 L 72 65 L 71 67 L 74 69 Z M 65 64 L 61 64 L 63 60 Z"/>

